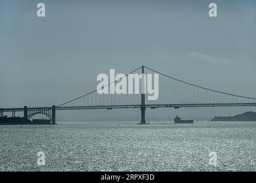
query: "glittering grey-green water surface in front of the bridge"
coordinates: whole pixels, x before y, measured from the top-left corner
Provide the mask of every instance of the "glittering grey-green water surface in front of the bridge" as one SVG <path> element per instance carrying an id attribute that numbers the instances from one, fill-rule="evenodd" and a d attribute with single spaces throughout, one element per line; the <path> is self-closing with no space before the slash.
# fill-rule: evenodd
<path id="1" fill-rule="evenodd" d="M 136 124 L 137 121 L 2 125 L 0 170 L 256 170 L 255 122 Z M 38 152 L 45 153 L 45 166 L 37 165 Z M 216 161 L 209 157 L 210 152 L 216 153 Z"/>

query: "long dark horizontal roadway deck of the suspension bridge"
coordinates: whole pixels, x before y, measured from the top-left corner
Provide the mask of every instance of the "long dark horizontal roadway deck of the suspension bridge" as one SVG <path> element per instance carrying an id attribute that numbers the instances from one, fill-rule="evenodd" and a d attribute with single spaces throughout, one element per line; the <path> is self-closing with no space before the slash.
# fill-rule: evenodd
<path id="1" fill-rule="evenodd" d="M 135 105 L 99 105 L 99 106 L 56 106 L 56 110 L 81 110 L 81 109 L 128 109 L 140 108 Z M 256 103 L 212 103 L 212 104 L 145 104 L 146 108 L 200 108 L 200 107 L 232 107 L 232 106 L 256 106 Z M 50 110 L 52 107 L 27 108 L 27 110 Z M 23 112 L 24 108 L 5 108 L 0 112 Z"/>

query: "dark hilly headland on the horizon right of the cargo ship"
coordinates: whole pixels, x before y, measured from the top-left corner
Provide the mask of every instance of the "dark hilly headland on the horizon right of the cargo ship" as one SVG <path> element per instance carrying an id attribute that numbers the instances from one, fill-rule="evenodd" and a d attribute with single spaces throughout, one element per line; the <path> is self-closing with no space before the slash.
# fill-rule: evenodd
<path id="1" fill-rule="evenodd" d="M 211 121 L 256 121 L 256 112 L 245 112 L 235 116 L 215 116 Z"/>

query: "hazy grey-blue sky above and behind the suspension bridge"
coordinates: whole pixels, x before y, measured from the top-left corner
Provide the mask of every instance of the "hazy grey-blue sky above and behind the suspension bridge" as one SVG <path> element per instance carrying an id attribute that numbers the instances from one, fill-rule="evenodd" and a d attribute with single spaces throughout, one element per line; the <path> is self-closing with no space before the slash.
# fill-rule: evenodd
<path id="1" fill-rule="evenodd" d="M 46 17 L 37 17 L 37 3 Z M 218 5 L 218 17 L 208 5 Z M 141 65 L 222 92 L 256 97 L 256 1 L 2 1 L 0 108 L 58 105 L 96 77 Z M 223 110 L 224 109 L 224 110 Z M 212 118 L 255 108 L 147 109 Z M 139 120 L 139 109 L 57 112 L 61 120 Z"/>

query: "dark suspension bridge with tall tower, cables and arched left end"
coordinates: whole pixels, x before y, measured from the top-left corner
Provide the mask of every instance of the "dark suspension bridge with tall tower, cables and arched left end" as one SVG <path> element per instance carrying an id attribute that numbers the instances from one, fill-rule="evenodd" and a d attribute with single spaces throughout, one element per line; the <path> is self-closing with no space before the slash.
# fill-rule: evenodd
<path id="1" fill-rule="evenodd" d="M 229 106 L 256 106 L 256 98 L 239 96 L 237 94 L 220 92 L 208 89 L 193 83 L 163 74 L 147 66 L 140 66 L 129 74 L 159 74 L 159 98 L 147 101 L 147 94 L 99 94 L 97 90 L 86 93 L 80 97 L 63 102 L 52 107 L 38 108 L 3 108 L 0 117 L 5 112 L 23 112 L 23 117 L 30 119 L 36 114 L 44 114 L 56 124 L 56 110 L 81 110 L 81 109 L 128 109 L 138 108 L 141 111 L 140 124 L 145 122 L 145 110 L 156 108 L 199 108 L 199 107 L 229 107 Z M 127 74 L 128 75 L 128 74 Z M 124 77 L 127 77 L 125 75 Z M 114 81 L 117 82 L 118 80 Z M 112 83 L 108 83 L 111 85 Z M 106 85 L 106 86 L 108 86 Z M 105 87 L 105 86 L 104 86 Z"/>

